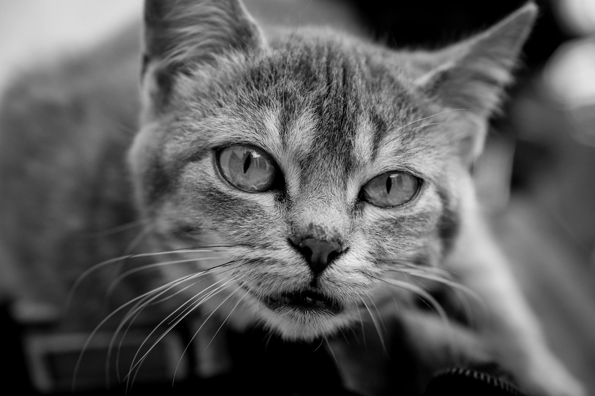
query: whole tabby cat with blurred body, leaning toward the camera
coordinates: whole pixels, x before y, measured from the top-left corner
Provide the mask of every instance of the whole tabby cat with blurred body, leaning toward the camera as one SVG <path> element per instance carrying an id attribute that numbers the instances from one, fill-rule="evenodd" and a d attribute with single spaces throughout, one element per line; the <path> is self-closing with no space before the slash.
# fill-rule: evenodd
<path id="1" fill-rule="evenodd" d="M 140 54 L 124 34 L 5 96 L 5 293 L 61 307 L 71 290 L 64 329 L 124 308 L 123 324 L 154 322 L 140 308 L 161 300 L 158 322 L 206 312 L 203 375 L 228 365 L 222 327 L 258 325 L 324 343 L 360 394 L 497 363 L 527 394 L 583 395 L 469 172 L 536 14 L 530 2 L 454 45 L 396 51 L 261 27 L 239 0 L 146 1 Z M 385 358 L 403 345 L 414 385 Z"/>

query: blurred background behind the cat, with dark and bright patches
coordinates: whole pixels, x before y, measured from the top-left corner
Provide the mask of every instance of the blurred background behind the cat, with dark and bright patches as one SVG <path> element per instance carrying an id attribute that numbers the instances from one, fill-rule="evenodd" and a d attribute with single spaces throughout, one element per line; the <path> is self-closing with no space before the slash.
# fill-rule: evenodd
<path id="1" fill-rule="evenodd" d="M 524 1 L 313 3 L 303 23 L 329 19 L 390 46 L 437 47 L 490 26 Z M 474 175 L 550 344 L 595 394 L 595 0 L 537 3 L 540 17 L 518 83 L 491 121 Z M 140 0 L 0 0 L 0 91 L 23 69 L 104 41 L 139 20 L 141 9 Z"/>

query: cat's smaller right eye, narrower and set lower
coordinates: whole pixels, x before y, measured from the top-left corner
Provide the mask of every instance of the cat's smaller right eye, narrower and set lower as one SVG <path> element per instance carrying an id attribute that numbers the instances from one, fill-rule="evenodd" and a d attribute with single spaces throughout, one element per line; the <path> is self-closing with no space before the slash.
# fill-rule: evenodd
<path id="1" fill-rule="evenodd" d="M 415 198 L 421 181 L 406 172 L 384 173 L 362 188 L 362 199 L 375 206 L 392 208 Z"/>

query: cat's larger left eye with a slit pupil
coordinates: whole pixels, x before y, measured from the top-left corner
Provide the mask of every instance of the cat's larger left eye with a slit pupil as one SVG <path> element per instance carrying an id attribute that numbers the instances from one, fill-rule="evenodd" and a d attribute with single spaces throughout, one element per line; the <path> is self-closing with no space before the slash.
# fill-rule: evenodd
<path id="1" fill-rule="evenodd" d="M 221 175 L 233 186 L 252 192 L 269 191 L 277 177 L 277 167 L 262 150 L 248 145 L 232 145 L 218 151 Z"/>

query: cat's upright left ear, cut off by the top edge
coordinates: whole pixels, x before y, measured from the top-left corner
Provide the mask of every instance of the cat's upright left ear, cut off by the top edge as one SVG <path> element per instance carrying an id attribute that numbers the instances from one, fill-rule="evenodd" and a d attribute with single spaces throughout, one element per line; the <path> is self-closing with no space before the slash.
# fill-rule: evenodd
<path id="1" fill-rule="evenodd" d="M 265 47 L 241 0 L 146 0 L 144 17 L 143 90 L 156 110 L 180 75 L 226 53 Z"/>

